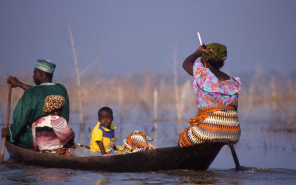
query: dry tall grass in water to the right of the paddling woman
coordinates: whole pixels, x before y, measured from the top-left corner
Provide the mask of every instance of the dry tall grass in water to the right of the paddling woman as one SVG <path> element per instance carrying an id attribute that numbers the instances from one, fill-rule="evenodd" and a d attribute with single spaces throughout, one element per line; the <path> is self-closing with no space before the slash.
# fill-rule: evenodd
<path id="1" fill-rule="evenodd" d="M 244 84 L 244 83 L 243 83 Z M 248 88 L 244 88 L 244 87 Z M 245 112 L 252 112 L 256 120 L 256 107 L 271 111 L 267 118 L 270 131 L 296 131 L 296 81 L 276 73 L 264 76 L 256 69 L 249 84 L 239 93 L 239 107 Z"/>

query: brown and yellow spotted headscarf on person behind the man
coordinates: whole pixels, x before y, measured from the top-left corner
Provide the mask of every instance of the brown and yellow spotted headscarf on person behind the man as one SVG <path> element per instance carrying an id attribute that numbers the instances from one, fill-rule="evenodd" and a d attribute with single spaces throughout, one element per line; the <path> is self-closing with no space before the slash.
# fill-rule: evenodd
<path id="1" fill-rule="evenodd" d="M 63 107 L 65 98 L 61 95 L 49 95 L 44 100 L 43 112 L 49 113 Z"/>

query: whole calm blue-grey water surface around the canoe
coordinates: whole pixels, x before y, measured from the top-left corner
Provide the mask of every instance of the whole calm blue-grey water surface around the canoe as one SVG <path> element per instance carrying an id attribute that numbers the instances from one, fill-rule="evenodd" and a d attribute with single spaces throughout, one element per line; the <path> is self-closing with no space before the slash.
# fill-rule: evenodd
<path id="1" fill-rule="evenodd" d="M 235 150 L 242 168 L 235 171 L 228 146 L 224 146 L 207 171 L 172 170 L 145 173 L 110 173 L 41 168 L 16 164 L 5 151 L 0 166 L 1 184 L 296 184 L 295 132 L 266 132 L 268 123 L 240 118 L 242 135 Z M 184 123 L 184 127 L 187 123 Z M 116 125 L 116 136 L 143 130 L 153 137 L 154 123 Z M 78 133 L 78 125 L 70 125 Z M 87 125 L 87 130 L 94 125 Z M 122 128 L 122 129 L 121 129 Z M 176 144 L 176 123 L 159 123 L 158 147 Z M 120 133 L 120 130 L 122 132 Z M 83 144 L 89 144 L 91 133 Z M 78 139 L 78 134 L 76 135 Z M 75 139 L 75 142 L 78 140 Z M 123 139 L 123 138 L 122 138 Z M 2 140 L 1 140 L 2 143 Z M 122 143 L 116 143 L 121 145 Z"/>

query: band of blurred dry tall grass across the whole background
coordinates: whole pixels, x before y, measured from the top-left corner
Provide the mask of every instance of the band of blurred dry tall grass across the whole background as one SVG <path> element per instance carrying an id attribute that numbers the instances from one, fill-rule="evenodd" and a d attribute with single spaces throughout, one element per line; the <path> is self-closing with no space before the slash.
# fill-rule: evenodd
<path id="1" fill-rule="evenodd" d="M 32 84 L 32 73 L 17 76 L 21 81 Z M 5 120 L 5 109 L 7 104 L 8 85 L 6 77 L 0 78 L 1 86 L 1 122 Z M 54 78 L 55 79 L 55 78 Z M 180 80 L 181 81 L 181 80 Z M 192 78 L 189 76 L 182 79 L 184 83 L 178 83 L 179 111 L 181 110 L 181 121 L 186 122 L 196 114 L 195 96 L 192 91 Z M 54 80 L 55 83 L 60 83 Z M 70 112 L 78 113 L 78 94 L 76 81 L 73 79 L 62 82 L 69 94 Z M 249 83 L 242 82 L 242 90 L 239 93 L 239 112 L 253 112 L 258 106 L 271 110 L 269 130 L 271 131 L 295 131 L 296 119 L 296 81 L 285 80 L 281 75 L 269 76 L 265 79 L 258 70 Z M 128 122 L 154 122 L 154 89 L 157 89 L 157 119 L 158 122 L 178 122 L 176 108 L 176 94 L 173 76 L 143 76 L 132 77 L 129 75 L 115 78 L 106 78 L 97 74 L 83 76 L 81 78 L 81 94 L 83 100 L 83 114 L 86 122 L 95 123 L 91 120 L 92 109 L 101 106 L 110 106 L 115 112 L 119 112 L 119 123 Z M 13 88 L 12 110 L 22 96 L 23 90 Z M 4 111 L 3 111 L 4 110 Z M 193 113 L 188 113 L 193 112 Z M 186 116 L 184 116 L 186 115 Z M 118 118 L 116 118 L 118 120 Z M 117 122 L 118 124 L 118 122 Z M 182 129 L 189 124 L 182 125 Z M 179 129 L 178 129 L 179 130 Z M 178 131 L 176 131 L 176 135 Z"/>

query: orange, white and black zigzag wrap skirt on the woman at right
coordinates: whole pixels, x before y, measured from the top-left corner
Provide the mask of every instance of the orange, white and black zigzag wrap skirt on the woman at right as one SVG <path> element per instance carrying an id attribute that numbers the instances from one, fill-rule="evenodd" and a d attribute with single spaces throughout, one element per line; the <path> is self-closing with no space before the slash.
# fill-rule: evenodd
<path id="1" fill-rule="evenodd" d="M 189 119 L 190 127 L 179 136 L 181 147 L 190 147 L 212 139 L 227 139 L 237 143 L 240 126 L 234 106 L 204 107 Z"/>

